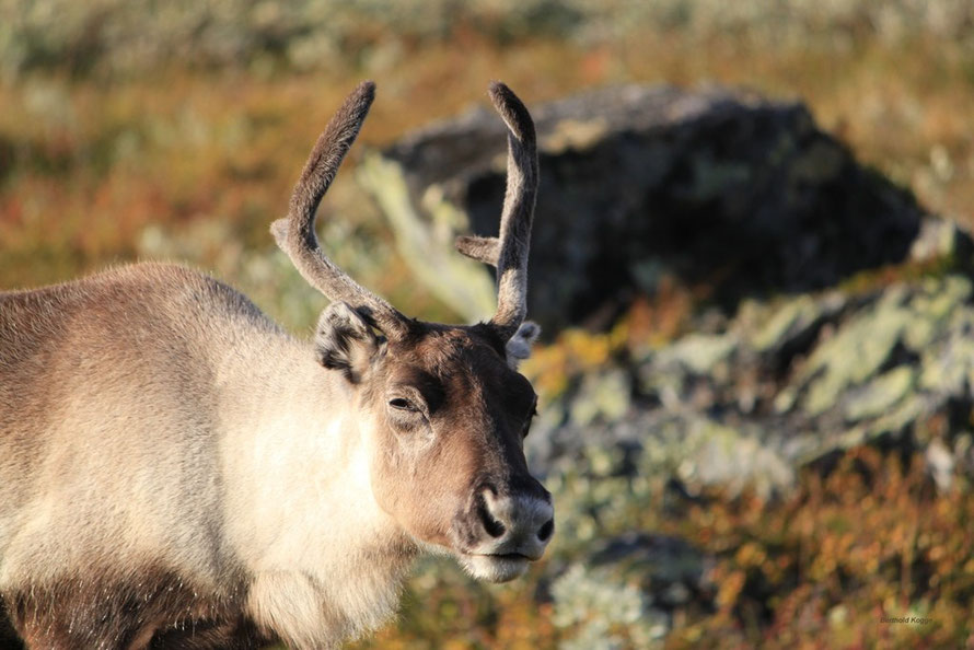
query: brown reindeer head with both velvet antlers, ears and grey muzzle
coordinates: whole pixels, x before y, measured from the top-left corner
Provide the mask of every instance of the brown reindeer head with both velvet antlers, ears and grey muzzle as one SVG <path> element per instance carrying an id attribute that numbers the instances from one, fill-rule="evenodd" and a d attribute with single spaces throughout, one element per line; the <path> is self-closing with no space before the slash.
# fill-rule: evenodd
<path id="1" fill-rule="evenodd" d="M 537 336 L 525 323 L 527 251 L 537 188 L 534 124 L 501 83 L 490 97 L 509 128 L 499 237 L 457 248 L 497 267 L 497 313 L 451 326 L 408 318 L 322 252 L 315 212 L 361 128 L 374 84 L 352 92 L 318 138 L 286 219 L 271 227 L 302 276 L 333 302 L 315 353 L 352 390 L 379 506 L 419 545 L 455 555 L 476 578 L 510 580 L 554 533 L 550 495 L 527 471 L 523 439 L 537 397 L 517 372 Z"/>

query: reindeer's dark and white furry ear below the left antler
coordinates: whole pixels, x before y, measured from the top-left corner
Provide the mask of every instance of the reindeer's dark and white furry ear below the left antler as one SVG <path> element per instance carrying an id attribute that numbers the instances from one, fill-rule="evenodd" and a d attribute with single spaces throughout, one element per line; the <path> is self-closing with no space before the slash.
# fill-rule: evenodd
<path id="1" fill-rule="evenodd" d="M 357 384 L 379 353 L 382 340 L 371 324 L 344 302 L 333 302 L 322 312 L 314 334 L 318 363 L 340 370 Z"/>

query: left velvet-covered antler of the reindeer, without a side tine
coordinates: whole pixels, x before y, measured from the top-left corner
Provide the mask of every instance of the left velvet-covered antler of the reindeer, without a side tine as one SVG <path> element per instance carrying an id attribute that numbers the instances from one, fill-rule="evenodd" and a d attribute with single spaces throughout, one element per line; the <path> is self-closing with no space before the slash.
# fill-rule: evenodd
<path id="1" fill-rule="evenodd" d="M 312 287 L 328 300 L 347 302 L 371 317 L 376 327 L 392 337 L 405 332 L 407 318 L 332 262 L 322 252 L 314 231 L 318 204 L 359 135 L 374 98 L 375 84 L 371 81 L 363 81 L 346 97 L 308 156 L 291 195 L 288 216 L 275 221 L 270 232 L 277 245 L 288 254 Z"/>

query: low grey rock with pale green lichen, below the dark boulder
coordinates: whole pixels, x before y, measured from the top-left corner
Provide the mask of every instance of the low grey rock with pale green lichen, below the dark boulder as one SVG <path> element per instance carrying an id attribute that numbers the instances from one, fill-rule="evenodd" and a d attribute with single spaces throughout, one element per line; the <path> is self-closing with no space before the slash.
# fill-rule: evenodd
<path id="1" fill-rule="evenodd" d="M 719 332 L 569 382 L 529 456 L 557 475 L 616 450 L 617 473 L 767 496 L 804 465 L 879 444 L 925 453 L 948 488 L 955 466 L 974 469 L 972 301 L 960 274 L 747 301 Z"/>

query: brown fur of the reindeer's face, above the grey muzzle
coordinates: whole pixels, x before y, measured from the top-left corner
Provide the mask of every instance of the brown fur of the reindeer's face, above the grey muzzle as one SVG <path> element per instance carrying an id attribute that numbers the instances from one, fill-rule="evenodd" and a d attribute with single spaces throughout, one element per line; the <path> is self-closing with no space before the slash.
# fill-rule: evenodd
<path id="1" fill-rule="evenodd" d="M 398 396 L 422 413 L 397 414 L 387 403 Z M 378 414 L 376 498 L 415 537 L 466 550 L 463 533 L 478 524 L 464 520 L 476 518 L 483 489 L 550 499 L 523 452 L 534 391 L 510 369 L 492 329 L 417 327 L 390 344 L 362 398 Z"/>

